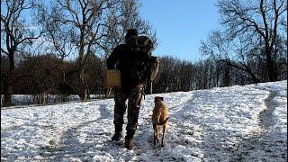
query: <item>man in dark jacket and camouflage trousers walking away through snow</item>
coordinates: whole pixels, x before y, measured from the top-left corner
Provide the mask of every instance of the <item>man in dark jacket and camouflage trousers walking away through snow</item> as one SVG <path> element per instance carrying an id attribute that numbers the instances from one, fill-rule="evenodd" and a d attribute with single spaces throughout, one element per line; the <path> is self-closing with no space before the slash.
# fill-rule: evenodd
<path id="1" fill-rule="evenodd" d="M 120 44 L 115 49 L 113 49 L 112 54 L 107 59 L 107 68 L 116 68 L 121 72 L 121 86 L 115 87 L 114 89 L 114 126 L 115 132 L 112 136 L 112 140 L 121 139 L 122 124 L 124 123 L 123 115 L 126 111 L 126 101 L 128 100 L 128 123 L 126 126 L 126 136 L 125 136 L 125 148 L 133 148 L 133 136 L 138 127 L 139 118 L 139 108 L 140 101 L 144 94 L 144 82 L 146 81 L 146 76 L 133 75 L 133 67 L 135 61 L 142 60 L 143 58 L 135 57 L 140 56 L 137 51 L 131 48 L 133 40 L 138 38 L 138 31 L 135 29 L 130 29 L 127 31 L 125 36 L 125 44 Z M 148 69 L 148 67 L 143 67 Z M 138 72 L 136 74 L 139 74 Z M 136 77 L 135 77 L 136 76 Z"/>

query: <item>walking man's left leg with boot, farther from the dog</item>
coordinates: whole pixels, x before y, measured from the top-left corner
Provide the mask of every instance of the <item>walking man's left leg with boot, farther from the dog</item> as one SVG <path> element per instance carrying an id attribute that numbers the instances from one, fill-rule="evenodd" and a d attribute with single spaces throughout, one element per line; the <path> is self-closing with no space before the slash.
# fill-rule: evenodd
<path id="1" fill-rule="evenodd" d="M 120 140 L 121 139 L 121 132 L 122 132 L 122 124 L 124 123 L 123 116 L 126 111 L 126 100 L 128 95 L 123 91 L 121 87 L 117 87 L 114 89 L 114 126 L 115 132 L 112 137 L 112 140 Z"/>

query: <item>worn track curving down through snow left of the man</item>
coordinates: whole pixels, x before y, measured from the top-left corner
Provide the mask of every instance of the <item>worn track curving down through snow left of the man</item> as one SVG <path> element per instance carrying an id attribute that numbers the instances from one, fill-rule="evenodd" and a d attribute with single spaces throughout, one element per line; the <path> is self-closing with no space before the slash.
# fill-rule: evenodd
<path id="1" fill-rule="evenodd" d="M 111 132 L 110 122 L 112 122 L 112 112 L 108 108 L 112 106 L 111 103 L 88 103 L 89 106 L 98 106 L 96 116 L 93 120 L 77 122 L 69 125 L 61 132 L 59 142 L 49 141 L 49 146 L 40 148 L 40 157 L 42 160 L 81 160 L 93 161 L 94 150 L 99 149 L 98 146 L 103 146 L 108 139 L 110 139 Z M 79 113 L 83 113 L 81 110 Z M 85 107 L 85 109 L 90 109 Z M 88 111 L 89 112 L 89 111 Z M 90 115 L 90 114 L 85 114 Z M 101 124 L 106 123 L 107 129 L 102 129 Z M 89 153 L 90 152 L 90 153 Z"/>

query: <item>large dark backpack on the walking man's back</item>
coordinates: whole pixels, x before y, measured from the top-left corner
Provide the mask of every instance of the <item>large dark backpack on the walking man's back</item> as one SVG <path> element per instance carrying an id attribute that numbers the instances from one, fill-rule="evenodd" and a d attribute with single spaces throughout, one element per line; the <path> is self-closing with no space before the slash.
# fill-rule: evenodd
<path id="1" fill-rule="evenodd" d="M 153 41 L 147 36 L 132 37 L 128 44 L 132 50 L 130 62 L 130 80 L 132 83 L 153 82 L 157 76 L 159 59 L 151 56 Z"/>

